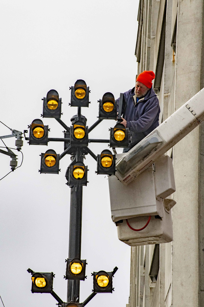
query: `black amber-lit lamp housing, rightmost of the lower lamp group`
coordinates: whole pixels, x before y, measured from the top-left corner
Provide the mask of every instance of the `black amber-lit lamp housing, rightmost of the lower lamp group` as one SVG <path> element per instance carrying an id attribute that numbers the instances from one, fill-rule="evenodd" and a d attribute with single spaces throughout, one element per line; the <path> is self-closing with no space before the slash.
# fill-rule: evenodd
<path id="1" fill-rule="evenodd" d="M 93 272 L 93 293 L 112 293 L 112 272 Z"/>

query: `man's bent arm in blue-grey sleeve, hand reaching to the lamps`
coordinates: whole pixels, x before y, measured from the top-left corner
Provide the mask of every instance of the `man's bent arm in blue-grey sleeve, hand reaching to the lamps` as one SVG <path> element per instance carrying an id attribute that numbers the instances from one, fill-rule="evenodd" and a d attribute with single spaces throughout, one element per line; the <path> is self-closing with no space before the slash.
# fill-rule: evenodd
<path id="1" fill-rule="evenodd" d="M 130 130 L 134 132 L 144 132 L 152 125 L 157 113 L 159 111 L 159 107 L 157 104 L 151 105 L 151 108 L 147 110 L 137 121 L 127 122 L 126 127 L 130 128 Z M 123 123 L 123 122 L 122 122 Z"/>

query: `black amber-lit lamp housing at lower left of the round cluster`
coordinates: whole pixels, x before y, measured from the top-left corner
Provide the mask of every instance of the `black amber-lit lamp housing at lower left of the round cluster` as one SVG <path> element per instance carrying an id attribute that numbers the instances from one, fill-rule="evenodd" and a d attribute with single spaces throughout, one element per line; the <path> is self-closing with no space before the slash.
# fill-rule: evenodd
<path id="1" fill-rule="evenodd" d="M 59 174 L 59 153 L 48 149 L 41 153 L 40 174 Z"/>

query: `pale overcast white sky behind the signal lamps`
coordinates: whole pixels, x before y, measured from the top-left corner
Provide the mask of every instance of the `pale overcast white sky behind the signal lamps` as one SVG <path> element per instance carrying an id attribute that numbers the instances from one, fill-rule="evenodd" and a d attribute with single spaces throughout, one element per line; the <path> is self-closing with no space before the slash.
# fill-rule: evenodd
<path id="1" fill-rule="evenodd" d="M 45 1 L 2 0 L 0 6 L 0 120 L 23 131 L 42 113 L 41 98 L 54 88 L 62 97 L 62 120 L 70 126 L 77 109 L 68 106 L 69 86 L 84 79 L 90 87 L 89 108 L 82 114 L 91 126 L 98 116 L 97 100 L 111 91 L 134 87 L 137 62 L 134 56 L 139 0 Z M 54 119 L 49 137 L 63 137 Z M 91 138 L 109 138 L 114 121 L 103 121 Z M 0 123 L 0 134 L 10 134 Z M 15 139 L 5 140 L 15 147 Z M 2 142 L 1 142 L 2 143 Z M 4 146 L 3 143 L 0 146 Z M 90 144 L 98 154 L 108 144 Z M 26 271 L 51 272 L 53 290 L 66 301 L 63 279 L 68 258 L 70 188 L 65 171 L 67 155 L 60 161 L 59 175 L 41 174 L 41 152 L 62 153 L 63 143 L 28 146 L 24 141 L 21 168 L 2 181 L 0 206 L 0 295 L 5 307 L 55 306 L 51 294 L 31 293 L 31 275 Z M 122 150 L 119 150 L 120 152 Z M 10 171 L 10 158 L 0 154 L 0 178 Z M 21 153 L 19 153 L 19 164 Z M 111 220 L 108 181 L 95 174 L 96 161 L 87 156 L 89 184 L 83 189 L 81 258 L 87 259 L 87 279 L 81 282 L 80 302 L 92 293 L 91 272 L 119 270 L 113 279 L 115 292 L 97 294 L 87 306 L 126 306 L 130 288 L 130 247 L 117 238 Z M 1 306 L 1 301 L 0 301 Z"/>

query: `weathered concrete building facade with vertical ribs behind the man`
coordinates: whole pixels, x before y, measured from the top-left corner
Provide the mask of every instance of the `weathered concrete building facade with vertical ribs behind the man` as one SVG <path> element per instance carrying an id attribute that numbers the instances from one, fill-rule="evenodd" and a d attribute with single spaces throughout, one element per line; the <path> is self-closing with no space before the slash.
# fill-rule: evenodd
<path id="1" fill-rule="evenodd" d="M 160 123 L 204 87 L 203 4 L 140 0 L 138 74 L 155 72 Z M 128 307 L 204 306 L 204 123 L 168 155 L 176 182 L 173 241 L 131 247 Z"/>

